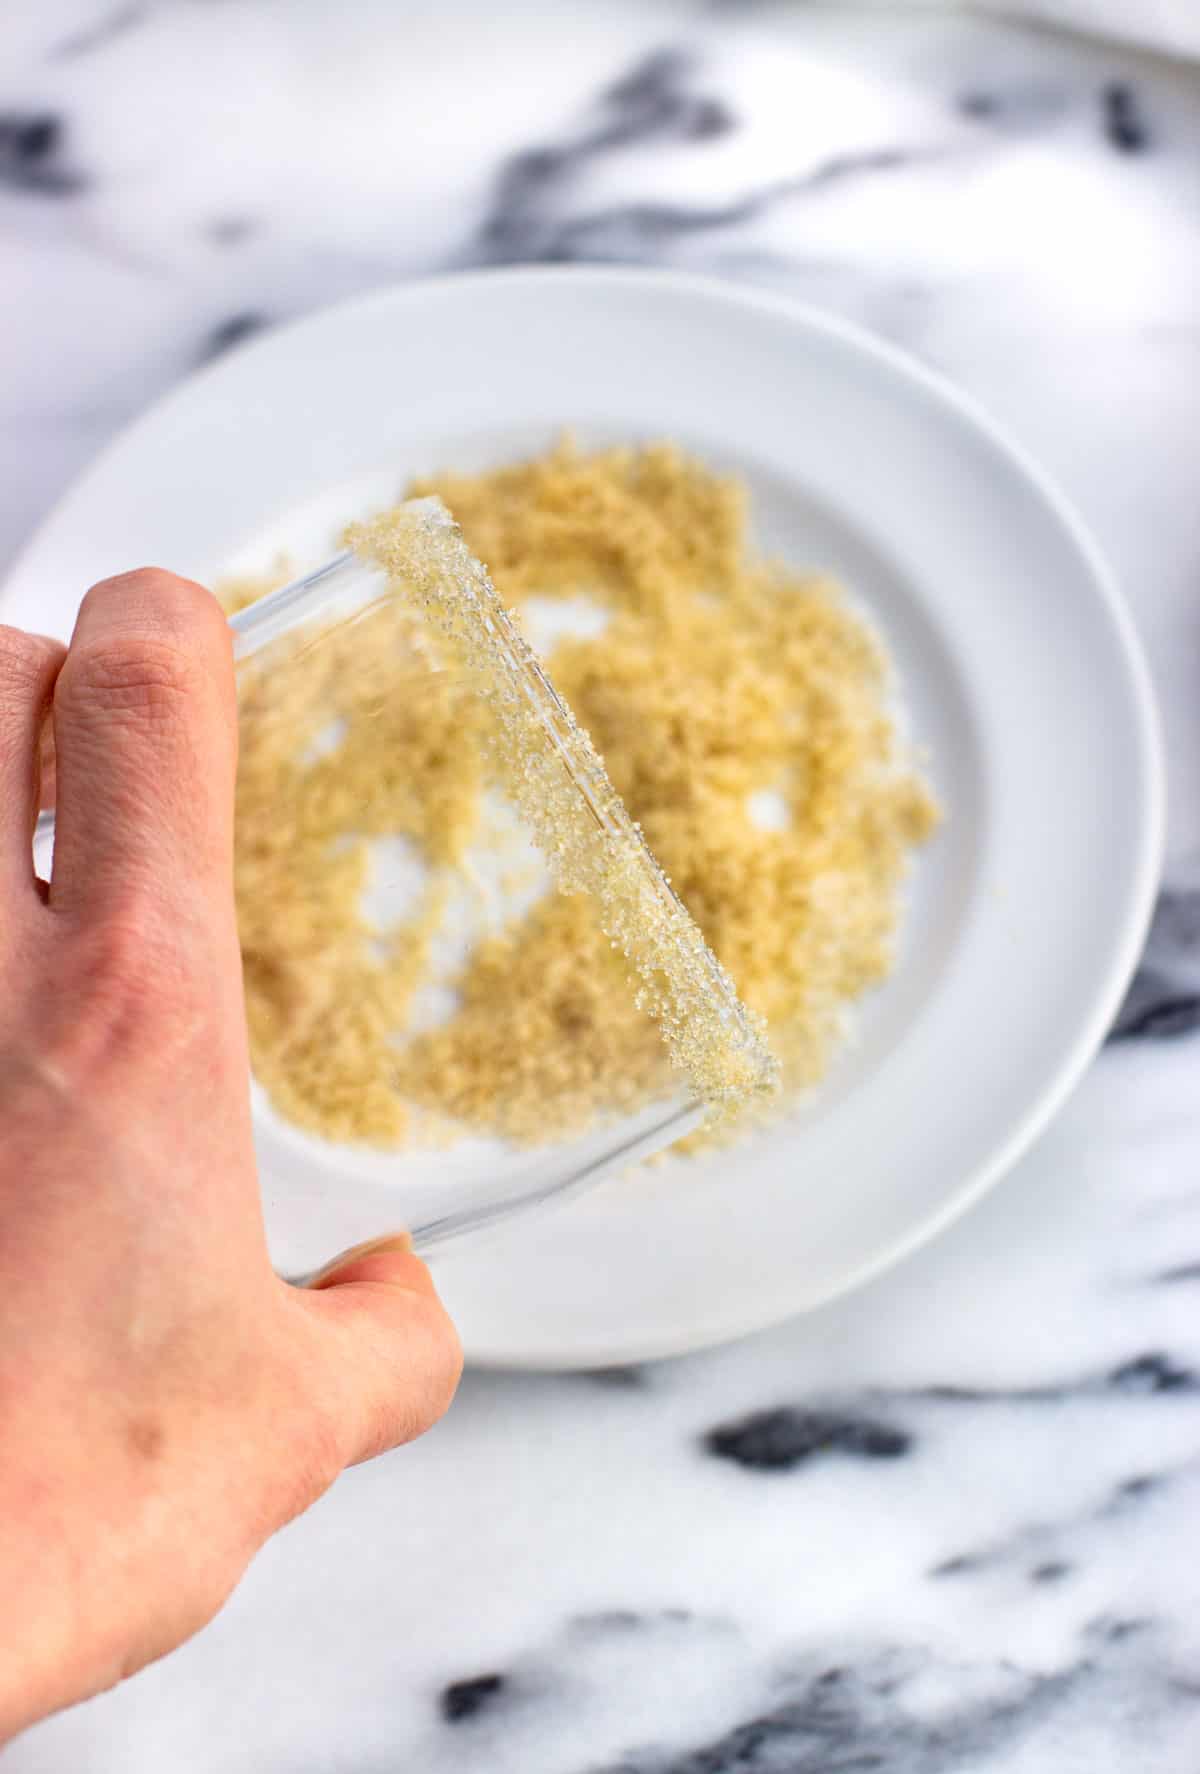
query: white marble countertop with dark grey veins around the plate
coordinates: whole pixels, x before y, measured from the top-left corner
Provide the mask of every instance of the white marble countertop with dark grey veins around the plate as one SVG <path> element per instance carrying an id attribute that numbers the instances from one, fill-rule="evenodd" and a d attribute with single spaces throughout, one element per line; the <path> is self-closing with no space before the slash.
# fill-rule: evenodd
<path id="1" fill-rule="evenodd" d="M 1124 1040 L 966 1222 L 719 1354 L 470 1375 L 5 1769 L 1195 1774 L 1200 71 L 898 5 L 18 0 L 0 239 L 0 566 L 160 389 L 387 279 L 847 314 L 1074 495 L 1173 798 Z"/>

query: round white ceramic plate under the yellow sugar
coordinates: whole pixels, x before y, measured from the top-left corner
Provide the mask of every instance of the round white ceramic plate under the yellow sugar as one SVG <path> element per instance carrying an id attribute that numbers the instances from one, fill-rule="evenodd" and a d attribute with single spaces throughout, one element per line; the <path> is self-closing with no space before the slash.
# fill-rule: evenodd
<path id="1" fill-rule="evenodd" d="M 277 543 L 312 564 L 339 518 L 412 472 L 492 463 L 563 424 L 586 444 L 669 436 L 735 468 L 758 539 L 850 584 L 950 820 L 916 871 L 893 981 L 792 1126 L 609 1181 L 438 1263 L 469 1355 L 522 1366 L 738 1336 L 948 1224 L 1101 1041 L 1163 828 L 1134 632 L 1037 468 L 895 351 L 696 279 L 467 275 L 270 334 L 107 451 L 0 614 L 66 635 L 108 571 L 154 561 L 206 580 Z"/>

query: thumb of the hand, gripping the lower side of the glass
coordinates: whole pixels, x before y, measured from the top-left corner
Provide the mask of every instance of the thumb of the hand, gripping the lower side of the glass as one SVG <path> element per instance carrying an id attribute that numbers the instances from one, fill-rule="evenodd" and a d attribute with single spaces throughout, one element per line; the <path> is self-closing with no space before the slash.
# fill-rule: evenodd
<path id="1" fill-rule="evenodd" d="M 343 1465 L 424 1435 L 462 1375 L 462 1346 L 407 1235 L 355 1245 L 296 1304 L 316 1320 Z"/>

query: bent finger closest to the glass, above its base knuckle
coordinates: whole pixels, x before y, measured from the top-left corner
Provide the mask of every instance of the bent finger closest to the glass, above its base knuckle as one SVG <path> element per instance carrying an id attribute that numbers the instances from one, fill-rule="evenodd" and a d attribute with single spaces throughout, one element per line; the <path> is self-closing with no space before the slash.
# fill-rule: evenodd
<path id="1" fill-rule="evenodd" d="M 130 892 L 176 908 L 227 887 L 236 690 L 220 605 L 158 568 L 83 598 L 53 697 L 57 832 L 50 903 Z"/>

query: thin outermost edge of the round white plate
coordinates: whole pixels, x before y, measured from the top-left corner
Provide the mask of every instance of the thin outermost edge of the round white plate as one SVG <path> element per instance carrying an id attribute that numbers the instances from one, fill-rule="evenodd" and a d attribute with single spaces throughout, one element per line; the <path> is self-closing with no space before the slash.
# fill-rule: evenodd
<path id="1" fill-rule="evenodd" d="M 165 419 L 176 403 L 185 403 L 193 396 L 197 385 L 215 381 L 227 373 L 240 355 L 250 351 L 270 351 L 304 328 L 327 325 L 330 321 L 351 321 L 355 314 L 371 309 L 403 307 L 405 302 L 435 300 L 440 289 L 458 289 L 463 286 L 486 287 L 492 284 L 525 286 L 533 293 L 547 286 L 588 284 L 612 289 L 667 291 L 683 300 L 696 298 L 701 303 L 722 305 L 740 314 L 758 312 L 785 321 L 808 337 L 825 339 L 847 348 L 861 360 L 875 365 L 884 376 L 896 378 L 911 390 L 921 394 L 934 408 L 948 413 L 960 428 L 982 436 L 989 447 L 1007 459 L 1008 467 L 1037 497 L 1047 514 L 1065 536 L 1095 598 L 1099 610 L 1108 619 L 1117 653 L 1124 669 L 1129 690 L 1129 710 L 1133 727 L 1131 757 L 1138 782 L 1138 830 L 1133 834 L 1131 887 L 1120 928 L 1113 931 L 1108 967 L 1097 976 L 1092 990 L 1092 1008 L 1079 1018 L 1074 1040 L 1065 1045 L 1058 1066 L 1047 1073 L 1042 1089 L 1030 1102 L 1008 1132 L 1008 1137 L 994 1146 L 991 1155 L 976 1164 L 959 1183 L 953 1194 L 930 1213 L 925 1213 L 907 1235 L 893 1238 L 882 1251 L 863 1260 L 859 1265 L 840 1272 L 829 1286 L 817 1290 L 792 1313 L 779 1313 L 778 1302 L 765 1302 L 763 1311 L 740 1309 L 708 1320 L 699 1334 L 680 1330 L 673 1336 L 643 1338 L 636 1346 L 612 1343 L 607 1348 L 589 1348 L 586 1355 L 568 1348 L 513 1343 L 502 1348 L 467 1346 L 469 1362 L 485 1370 L 540 1370 L 570 1371 L 579 1368 L 627 1364 L 634 1361 L 659 1361 L 701 1348 L 712 1348 L 744 1336 L 765 1330 L 774 1323 L 786 1322 L 788 1316 L 801 1316 L 818 1311 L 831 1300 L 840 1299 L 864 1286 L 886 1270 L 902 1263 L 914 1251 L 937 1238 L 971 1206 L 975 1206 L 1031 1148 L 1038 1135 L 1060 1112 L 1067 1098 L 1079 1086 L 1085 1071 L 1099 1052 L 1111 1020 L 1120 1006 L 1122 995 L 1133 977 L 1138 956 L 1154 912 L 1156 894 L 1161 880 L 1163 857 L 1166 846 L 1166 752 L 1161 713 L 1157 708 L 1154 681 L 1141 637 L 1138 633 L 1131 607 L 1127 605 L 1117 575 L 1109 566 L 1101 545 L 1079 514 L 1074 502 L 1062 491 L 1051 474 L 1037 458 L 1010 433 L 994 420 L 985 406 L 976 403 L 951 380 L 911 357 L 902 348 L 877 337 L 866 328 L 847 321 L 838 314 L 799 302 L 779 291 L 758 289 L 707 273 L 676 271 L 660 266 L 639 264 L 518 264 L 486 266 L 476 270 L 458 270 L 430 277 L 414 277 L 391 282 L 359 293 L 343 302 L 312 309 L 293 316 L 270 332 L 247 341 L 234 353 L 227 353 L 211 364 L 201 365 L 178 383 L 163 390 L 154 401 L 124 424 L 91 461 L 76 474 L 51 507 L 36 523 L 30 536 L 21 543 L 0 580 L 0 617 L 4 617 L 5 598 L 12 585 L 28 575 L 37 550 L 50 532 L 62 522 L 66 507 L 85 493 L 92 477 L 108 470 L 112 458 L 137 440 L 144 429 L 151 431 Z M 492 1339 L 495 1345 L 495 1339 Z"/>

